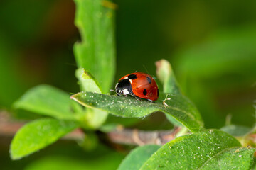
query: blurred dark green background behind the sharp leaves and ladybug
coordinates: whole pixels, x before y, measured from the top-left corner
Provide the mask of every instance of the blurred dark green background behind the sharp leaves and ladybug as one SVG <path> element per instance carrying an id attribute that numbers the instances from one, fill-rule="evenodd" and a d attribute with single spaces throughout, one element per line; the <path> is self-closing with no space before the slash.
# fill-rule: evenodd
<path id="1" fill-rule="evenodd" d="M 118 5 L 116 80 L 135 71 L 156 75 L 154 62 L 164 58 L 171 62 L 184 94 L 198 107 L 206 128 L 222 127 L 227 115 L 234 124 L 255 124 L 256 1 L 114 2 Z M 79 91 L 73 44 L 80 35 L 74 17 L 71 0 L 0 2 L 1 110 L 15 118 L 33 117 L 11 111 L 11 104 L 38 84 Z M 87 153 L 76 148 L 75 142 L 66 141 L 11 162 L 11 137 L 0 137 L 4 169 L 38 169 L 42 164 L 60 167 L 60 160 L 82 169 L 85 160 L 88 162 Z M 95 162 L 96 158 L 105 160 L 105 154 L 118 157 L 114 162 L 105 161 L 108 165 L 102 167 L 110 169 L 124 157 L 106 148 L 96 154 L 101 157 L 95 155 Z M 68 169 L 68 165 L 63 167 Z"/>

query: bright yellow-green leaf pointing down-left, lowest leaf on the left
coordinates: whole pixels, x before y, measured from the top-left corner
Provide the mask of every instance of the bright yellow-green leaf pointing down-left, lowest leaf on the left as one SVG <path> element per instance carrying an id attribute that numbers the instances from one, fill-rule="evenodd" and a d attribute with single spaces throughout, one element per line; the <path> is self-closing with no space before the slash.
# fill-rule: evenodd
<path id="1" fill-rule="evenodd" d="M 11 159 L 21 159 L 42 149 L 68 132 L 78 128 L 79 124 L 71 120 L 44 118 L 24 125 L 11 141 Z"/>

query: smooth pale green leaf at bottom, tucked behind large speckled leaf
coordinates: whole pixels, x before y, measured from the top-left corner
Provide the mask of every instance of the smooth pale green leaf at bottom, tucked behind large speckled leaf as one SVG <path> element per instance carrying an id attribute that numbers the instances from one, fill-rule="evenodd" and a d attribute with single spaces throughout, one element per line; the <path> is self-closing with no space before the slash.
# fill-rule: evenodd
<path id="1" fill-rule="evenodd" d="M 159 145 L 144 145 L 133 149 L 132 152 L 124 158 L 118 170 L 139 169 L 160 147 Z"/>

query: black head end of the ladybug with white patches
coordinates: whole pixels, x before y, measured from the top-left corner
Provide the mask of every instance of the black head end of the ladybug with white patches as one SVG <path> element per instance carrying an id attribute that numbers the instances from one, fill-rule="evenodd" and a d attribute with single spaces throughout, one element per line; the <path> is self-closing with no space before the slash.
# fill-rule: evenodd
<path id="1" fill-rule="evenodd" d="M 119 80 L 115 86 L 115 91 L 117 96 L 132 94 L 132 85 L 129 82 L 129 79 Z"/>

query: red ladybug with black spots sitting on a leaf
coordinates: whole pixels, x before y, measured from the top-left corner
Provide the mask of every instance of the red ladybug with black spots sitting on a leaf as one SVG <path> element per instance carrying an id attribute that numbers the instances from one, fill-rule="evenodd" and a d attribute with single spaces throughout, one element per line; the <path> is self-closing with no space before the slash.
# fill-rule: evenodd
<path id="1" fill-rule="evenodd" d="M 145 98 L 156 101 L 159 98 L 159 89 L 156 81 L 149 74 L 136 72 L 127 74 L 119 79 L 115 86 L 117 96 L 131 95 L 135 98 Z"/>

